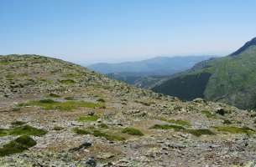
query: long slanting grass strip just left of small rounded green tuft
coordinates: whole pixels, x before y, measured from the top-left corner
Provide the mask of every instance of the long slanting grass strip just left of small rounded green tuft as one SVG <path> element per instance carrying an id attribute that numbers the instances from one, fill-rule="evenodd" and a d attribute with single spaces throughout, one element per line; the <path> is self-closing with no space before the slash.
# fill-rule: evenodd
<path id="1" fill-rule="evenodd" d="M 114 134 L 106 134 L 100 130 L 97 129 L 74 129 L 74 132 L 76 134 L 91 134 L 94 135 L 95 137 L 102 137 L 110 141 L 123 141 L 125 138 L 122 136 L 114 135 Z"/>

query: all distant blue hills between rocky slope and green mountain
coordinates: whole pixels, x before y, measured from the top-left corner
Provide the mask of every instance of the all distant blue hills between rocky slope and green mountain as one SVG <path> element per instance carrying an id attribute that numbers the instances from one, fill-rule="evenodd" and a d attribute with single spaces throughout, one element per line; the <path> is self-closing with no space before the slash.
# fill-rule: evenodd
<path id="1" fill-rule="evenodd" d="M 150 89 L 169 78 L 173 73 L 184 71 L 198 62 L 212 57 L 156 57 L 138 62 L 97 63 L 87 68 L 107 74 L 109 78 Z"/>

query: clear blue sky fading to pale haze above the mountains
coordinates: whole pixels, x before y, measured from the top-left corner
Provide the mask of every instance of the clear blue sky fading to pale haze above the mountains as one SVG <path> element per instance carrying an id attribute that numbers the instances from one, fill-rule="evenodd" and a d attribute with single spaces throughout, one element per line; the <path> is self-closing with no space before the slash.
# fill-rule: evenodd
<path id="1" fill-rule="evenodd" d="M 0 54 L 76 63 L 225 55 L 256 36 L 256 0 L 0 0 Z"/>

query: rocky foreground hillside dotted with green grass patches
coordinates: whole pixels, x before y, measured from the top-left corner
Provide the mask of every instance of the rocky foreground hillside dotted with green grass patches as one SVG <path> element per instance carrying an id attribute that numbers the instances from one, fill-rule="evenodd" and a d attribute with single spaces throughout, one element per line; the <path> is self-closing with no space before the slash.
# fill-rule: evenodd
<path id="1" fill-rule="evenodd" d="M 253 111 L 37 55 L 0 57 L 0 166 L 253 166 Z"/>

